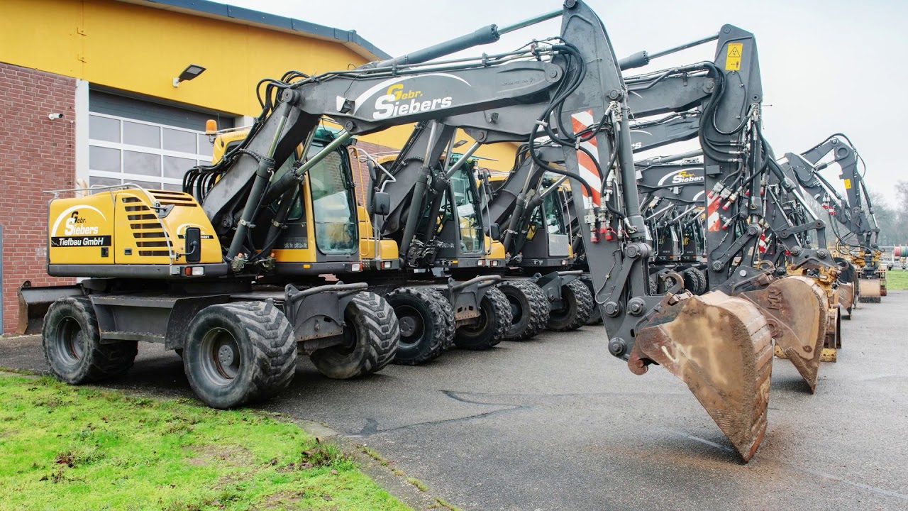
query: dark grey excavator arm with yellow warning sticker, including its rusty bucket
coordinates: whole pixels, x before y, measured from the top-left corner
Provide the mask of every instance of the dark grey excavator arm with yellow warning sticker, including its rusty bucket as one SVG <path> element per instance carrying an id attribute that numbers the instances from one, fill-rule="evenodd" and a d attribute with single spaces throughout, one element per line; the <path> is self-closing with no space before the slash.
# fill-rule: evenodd
<path id="1" fill-rule="evenodd" d="M 773 233 L 767 222 L 771 197 L 766 186 L 778 169 L 762 134 L 763 91 L 755 37 L 725 25 L 715 38 L 702 41 L 710 40 L 716 40 L 713 62 L 627 78 L 629 103 L 638 119 L 699 111 L 709 286 L 759 308 L 778 345 L 786 353 L 794 350 L 790 357 L 813 391 L 830 306 L 814 280 L 776 278 L 775 268 L 761 258 L 761 243 Z M 789 237 L 796 242 L 795 236 Z M 791 252 L 837 271 L 825 249 L 797 247 Z"/>

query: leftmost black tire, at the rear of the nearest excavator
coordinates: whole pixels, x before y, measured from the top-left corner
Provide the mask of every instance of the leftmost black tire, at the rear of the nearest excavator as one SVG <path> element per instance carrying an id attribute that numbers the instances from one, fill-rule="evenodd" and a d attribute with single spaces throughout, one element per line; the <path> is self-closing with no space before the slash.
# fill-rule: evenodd
<path id="1" fill-rule="evenodd" d="M 98 318 L 87 296 L 55 301 L 44 316 L 41 347 L 51 374 L 80 385 L 121 376 L 133 366 L 136 341 L 101 344 Z"/>

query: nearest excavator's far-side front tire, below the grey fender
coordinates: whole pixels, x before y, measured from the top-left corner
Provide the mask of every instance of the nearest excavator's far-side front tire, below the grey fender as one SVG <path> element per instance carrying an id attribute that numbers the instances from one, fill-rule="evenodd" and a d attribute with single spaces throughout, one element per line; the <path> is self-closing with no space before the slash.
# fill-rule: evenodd
<path id="1" fill-rule="evenodd" d="M 316 369 L 329 378 L 347 380 L 377 373 L 397 353 L 400 326 L 388 300 L 360 291 L 344 311 L 344 336 L 348 342 L 312 352 Z"/>

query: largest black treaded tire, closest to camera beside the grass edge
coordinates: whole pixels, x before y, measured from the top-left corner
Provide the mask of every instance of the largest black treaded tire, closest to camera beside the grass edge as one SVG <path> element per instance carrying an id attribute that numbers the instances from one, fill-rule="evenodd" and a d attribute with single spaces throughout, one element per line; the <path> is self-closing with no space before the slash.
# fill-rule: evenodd
<path id="1" fill-rule="evenodd" d="M 203 308 L 192 319 L 183 346 L 183 369 L 192 391 L 220 409 L 280 393 L 296 373 L 296 358 L 293 327 L 271 301 Z"/>

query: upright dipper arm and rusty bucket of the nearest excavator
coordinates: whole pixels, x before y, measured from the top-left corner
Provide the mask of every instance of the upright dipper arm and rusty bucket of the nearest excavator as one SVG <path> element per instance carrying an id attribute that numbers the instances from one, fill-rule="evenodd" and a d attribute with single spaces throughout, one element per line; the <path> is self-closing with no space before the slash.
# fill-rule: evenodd
<path id="1" fill-rule="evenodd" d="M 545 131 L 548 140 L 562 145 L 568 171 L 594 185 L 587 191 L 571 178 L 609 351 L 627 360 L 636 374 L 656 363 L 681 378 L 735 449 L 750 459 L 765 434 L 769 327 L 755 306 L 724 293 L 691 296 L 674 286 L 664 296 L 649 295 L 652 247 L 640 210 L 628 121 L 633 96 L 595 19 L 562 19 L 566 39 L 584 42 L 574 65 L 585 66 L 587 79 L 551 108 L 558 118 L 538 125 L 534 142 Z M 555 124 L 557 132 L 551 128 Z"/>

